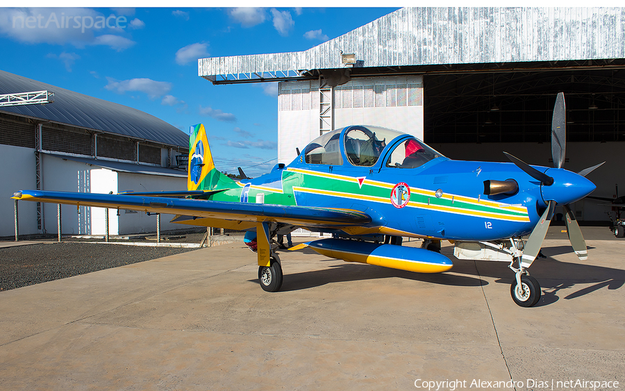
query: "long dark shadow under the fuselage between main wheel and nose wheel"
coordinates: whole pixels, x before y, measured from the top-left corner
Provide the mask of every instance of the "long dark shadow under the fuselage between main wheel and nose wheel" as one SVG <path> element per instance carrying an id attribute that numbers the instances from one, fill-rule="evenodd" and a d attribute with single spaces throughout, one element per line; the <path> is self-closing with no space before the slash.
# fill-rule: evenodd
<path id="1" fill-rule="evenodd" d="M 334 260 L 332 258 L 324 260 Z M 412 273 L 405 270 L 390 269 L 388 267 L 344 263 L 331 265 L 326 269 L 313 270 L 310 272 L 291 273 L 284 275 L 281 291 L 293 291 L 315 288 L 329 283 L 341 283 L 347 281 L 374 280 L 378 278 L 404 278 L 412 281 L 423 281 L 440 285 L 456 286 L 480 286 L 487 285 L 487 281 L 472 276 L 440 273 L 425 274 Z M 249 280 L 258 283 L 258 278 Z"/>

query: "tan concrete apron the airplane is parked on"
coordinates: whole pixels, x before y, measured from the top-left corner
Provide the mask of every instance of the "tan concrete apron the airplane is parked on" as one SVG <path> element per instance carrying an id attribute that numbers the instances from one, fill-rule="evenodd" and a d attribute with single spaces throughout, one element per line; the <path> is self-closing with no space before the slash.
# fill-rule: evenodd
<path id="1" fill-rule="evenodd" d="M 538 390 L 571 378 L 622 388 L 624 244 L 588 245 L 581 263 L 567 242 L 545 242 L 548 258 L 531 267 L 544 292 L 534 308 L 512 302 L 503 263 L 453 258 L 450 272 L 414 274 L 310 249 L 281 253 L 282 291 L 267 293 L 242 244 L 0 292 L 0 389 L 424 390 L 457 380 L 492 390 L 512 379 Z"/>

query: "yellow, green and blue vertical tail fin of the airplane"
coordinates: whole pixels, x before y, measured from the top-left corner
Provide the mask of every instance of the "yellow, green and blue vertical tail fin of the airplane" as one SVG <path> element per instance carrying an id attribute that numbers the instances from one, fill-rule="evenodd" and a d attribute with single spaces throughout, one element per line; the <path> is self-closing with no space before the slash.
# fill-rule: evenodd
<path id="1" fill-rule="evenodd" d="M 187 190 L 219 190 L 235 183 L 215 168 L 203 124 L 191 126 L 187 172 Z"/>

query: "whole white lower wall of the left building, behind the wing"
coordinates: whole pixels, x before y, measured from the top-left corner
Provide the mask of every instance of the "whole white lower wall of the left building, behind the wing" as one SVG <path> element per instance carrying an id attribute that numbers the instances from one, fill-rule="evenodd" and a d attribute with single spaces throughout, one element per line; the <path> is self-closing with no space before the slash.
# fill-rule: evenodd
<path id="1" fill-rule="evenodd" d="M 31 148 L 0 145 L 0 236 L 15 235 L 13 224 L 13 200 L 18 190 L 34 190 L 35 150 Z M 42 154 L 42 189 L 64 192 L 93 192 L 108 194 L 124 190 L 160 191 L 186 190 L 186 178 L 148 174 L 118 173 L 96 165 Z M 63 234 L 103 235 L 105 233 L 104 208 L 62 205 Z M 42 203 L 44 230 L 57 233 L 57 204 Z M 156 216 L 145 213 L 124 213 L 109 209 L 110 235 L 156 231 Z M 173 215 L 161 216 L 161 229 L 181 228 L 171 224 Z M 19 233 L 39 233 L 37 229 L 36 203 L 19 202 Z"/>

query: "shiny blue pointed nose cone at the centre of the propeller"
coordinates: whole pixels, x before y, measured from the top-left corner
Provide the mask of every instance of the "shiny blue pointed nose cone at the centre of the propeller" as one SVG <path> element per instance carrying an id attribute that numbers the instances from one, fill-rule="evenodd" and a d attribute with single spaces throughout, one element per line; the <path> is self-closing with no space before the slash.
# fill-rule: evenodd
<path id="1" fill-rule="evenodd" d="M 556 201 L 560 205 L 572 203 L 583 199 L 597 188 L 587 178 L 566 169 L 551 168 L 545 174 L 553 178 L 552 185 L 540 187 L 545 203 L 548 201 Z"/>

